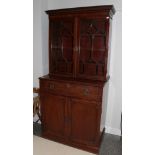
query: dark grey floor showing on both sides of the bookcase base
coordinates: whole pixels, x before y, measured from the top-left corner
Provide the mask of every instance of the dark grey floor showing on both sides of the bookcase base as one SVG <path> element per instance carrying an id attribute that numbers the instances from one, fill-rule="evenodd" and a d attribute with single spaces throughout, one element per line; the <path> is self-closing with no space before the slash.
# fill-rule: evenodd
<path id="1" fill-rule="evenodd" d="M 41 135 L 40 124 L 33 124 L 33 134 Z M 99 155 L 122 155 L 122 140 L 120 136 L 105 133 Z"/>

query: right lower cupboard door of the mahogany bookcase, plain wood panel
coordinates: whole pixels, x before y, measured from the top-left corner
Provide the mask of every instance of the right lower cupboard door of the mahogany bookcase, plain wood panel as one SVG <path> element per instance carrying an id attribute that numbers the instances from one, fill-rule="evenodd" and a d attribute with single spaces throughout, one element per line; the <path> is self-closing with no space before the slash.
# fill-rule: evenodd
<path id="1" fill-rule="evenodd" d="M 74 143 L 94 145 L 99 140 L 100 109 L 91 101 L 71 99 L 70 139 Z"/>

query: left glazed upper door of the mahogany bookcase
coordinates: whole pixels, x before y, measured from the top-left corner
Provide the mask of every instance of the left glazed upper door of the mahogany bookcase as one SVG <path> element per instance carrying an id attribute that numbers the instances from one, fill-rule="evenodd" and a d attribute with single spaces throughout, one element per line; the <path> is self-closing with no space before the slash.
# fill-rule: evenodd
<path id="1" fill-rule="evenodd" d="M 72 76 L 74 20 L 70 18 L 50 20 L 49 33 L 50 74 Z"/>

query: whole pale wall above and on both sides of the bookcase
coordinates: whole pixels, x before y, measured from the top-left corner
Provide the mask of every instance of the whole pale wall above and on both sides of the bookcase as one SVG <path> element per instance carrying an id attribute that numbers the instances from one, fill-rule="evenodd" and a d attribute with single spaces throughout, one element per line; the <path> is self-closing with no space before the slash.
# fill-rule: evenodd
<path id="1" fill-rule="evenodd" d="M 110 60 L 110 81 L 106 85 L 107 110 L 106 112 L 106 132 L 120 135 L 120 120 L 122 109 L 122 2 L 120 0 L 34 0 L 34 85 L 38 85 L 37 78 L 48 73 L 48 19 L 45 10 L 61 9 L 82 6 L 108 5 L 113 4 L 116 14 L 112 21 L 112 42 Z M 39 3 L 39 4 L 38 4 Z M 37 7 L 37 8 L 36 8 Z M 38 20 L 38 23 L 36 23 Z M 105 109 L 104 109 L 105 110 Z M 102 125 L 104 124 L 102 116 Z"/>

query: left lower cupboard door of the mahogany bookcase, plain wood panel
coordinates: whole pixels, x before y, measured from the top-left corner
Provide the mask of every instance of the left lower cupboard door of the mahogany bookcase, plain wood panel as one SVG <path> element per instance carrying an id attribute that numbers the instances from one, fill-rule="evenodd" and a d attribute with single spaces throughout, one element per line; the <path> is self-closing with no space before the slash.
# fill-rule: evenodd
<path id="1" fill-rule="evenodd" d="M 44 135 L 65 136 L 66 98 L 46 93 L 41 96 L 42 130 Z"/>

